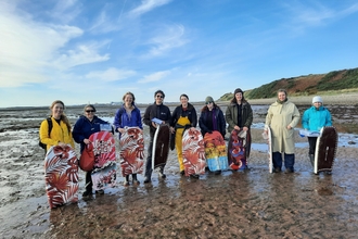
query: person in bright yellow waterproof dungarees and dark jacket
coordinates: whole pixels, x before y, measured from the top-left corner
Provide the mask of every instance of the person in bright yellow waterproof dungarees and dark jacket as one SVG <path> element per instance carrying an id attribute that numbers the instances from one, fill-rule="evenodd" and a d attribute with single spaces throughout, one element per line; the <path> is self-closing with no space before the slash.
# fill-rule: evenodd
<path id="1" fill-rule="evenodd" d="M 197 114 L 195 108 L 189 103 L 189 97 L 186 93 L 180 96 L 180 105 L 178 105 L 171 115 L 171 127 L 175 134 L 175 147 L 178 153 L 180 174 L 184 175 L 184 164 L 182 160 L 182 136 L 187 128 L 195 128 L 197 124 Z"/>

